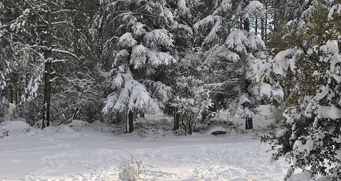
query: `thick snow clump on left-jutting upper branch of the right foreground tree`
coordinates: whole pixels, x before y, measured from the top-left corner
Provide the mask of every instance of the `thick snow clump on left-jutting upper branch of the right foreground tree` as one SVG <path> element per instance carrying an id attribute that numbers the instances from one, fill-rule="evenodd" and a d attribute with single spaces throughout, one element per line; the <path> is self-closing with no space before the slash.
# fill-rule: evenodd
<path id="1" fill-rule="evenodd" d="M 296 57 L 302 52 L 296 49 L 288 49 L 278 53 L 274 58 L 272 66 L 273 72 L 280 75 L 286 75 L 288 68 L 295 72 Z"/>

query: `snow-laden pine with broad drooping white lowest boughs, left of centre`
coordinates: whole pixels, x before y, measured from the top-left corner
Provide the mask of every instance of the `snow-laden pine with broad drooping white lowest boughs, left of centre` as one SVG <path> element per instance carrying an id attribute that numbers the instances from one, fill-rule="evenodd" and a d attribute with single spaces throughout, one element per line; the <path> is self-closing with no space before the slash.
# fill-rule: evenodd
<path id="1" fill-rule="evenodd" d="M 172 13 L 165 2 L 104 0 L 95 19 L 97 33 L 105 41 L 102 59 L 110 66 L 105 68 L 109 95 L 103 112 L 125 112 L 127 132 L 133 132 L 134 113 L 158 110 L 169 94 L 159 81 L 163 77 L 154 76 L 159 67 L 175 62 L 168 53 L 174 40 L 169 32 Z"/>

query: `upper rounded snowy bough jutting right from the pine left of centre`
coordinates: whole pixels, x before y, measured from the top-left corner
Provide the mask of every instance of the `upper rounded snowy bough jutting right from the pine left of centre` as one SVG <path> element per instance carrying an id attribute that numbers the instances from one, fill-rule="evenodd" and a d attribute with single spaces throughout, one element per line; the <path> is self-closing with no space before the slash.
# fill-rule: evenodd
<path id="1" fill-rule="evenodd" d="M 166 29 L 156 29 L 146 34 L 146 45 L 150 48 L 154 47 L 173 47 L 173 39 Z"/>

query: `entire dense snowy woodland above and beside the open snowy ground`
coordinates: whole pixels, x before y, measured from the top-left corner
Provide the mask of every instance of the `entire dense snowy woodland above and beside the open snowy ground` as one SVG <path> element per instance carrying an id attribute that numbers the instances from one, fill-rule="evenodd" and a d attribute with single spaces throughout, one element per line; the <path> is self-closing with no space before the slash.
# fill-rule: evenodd
<path id="1" fill-rule="evenodd" d="M 261 141 L 341 179 L 340 0 L 0 0 L 0 118 L 126 125 L 161 111 L 192 134 L 271 105 Z M 270 123 L 270 122 L 269 122 Z M 329 165 L 328 168 L 326 165 Z"/>

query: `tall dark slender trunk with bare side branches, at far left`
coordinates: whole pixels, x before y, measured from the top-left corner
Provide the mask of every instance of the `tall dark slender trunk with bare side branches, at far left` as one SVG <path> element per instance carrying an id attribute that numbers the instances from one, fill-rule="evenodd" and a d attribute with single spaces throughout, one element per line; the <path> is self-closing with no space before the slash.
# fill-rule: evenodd
<path id="1" fill-rule="evenodd" d="M 45 63 L 45 87 L 44 87 L 44 105 L 43 105 L 43 118 L 42 129 L 50 126 L 50 102 L 51 102 L 51 55 L 52 55 L 52 0 L 48 1 L 47 10 L 47 25 L 46 25 L 46 51 L 44 58 Z"/>

